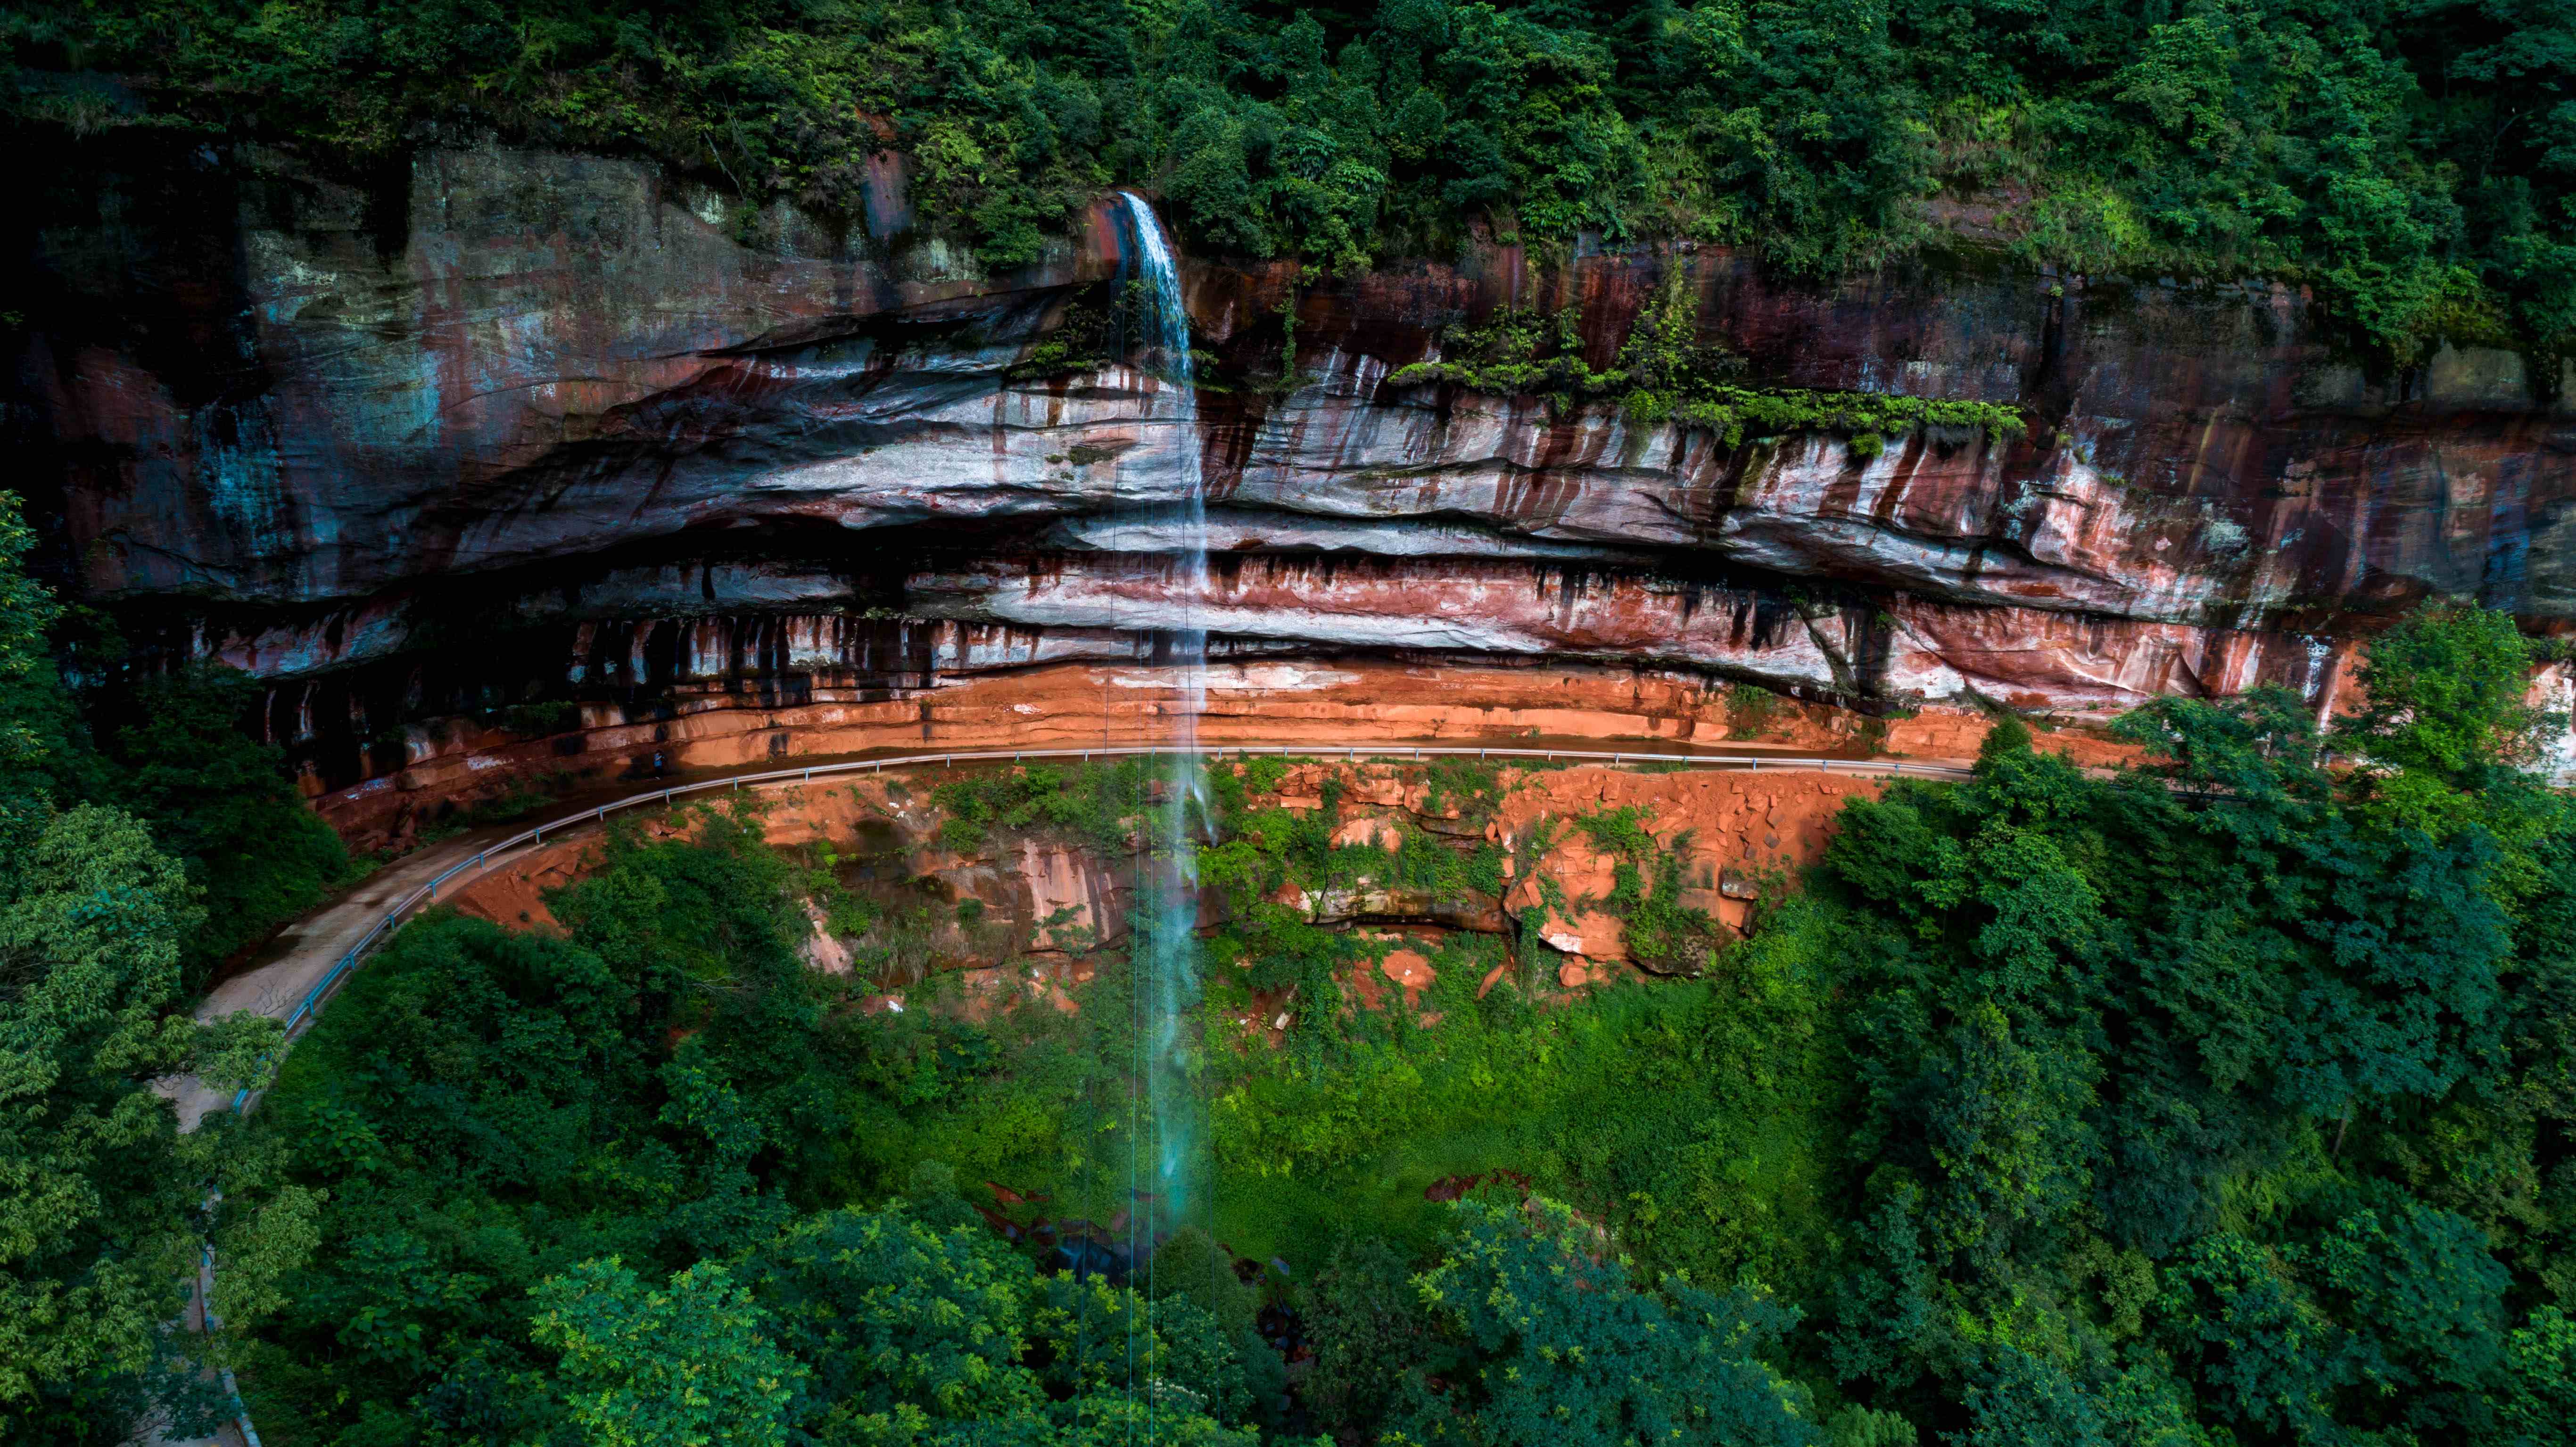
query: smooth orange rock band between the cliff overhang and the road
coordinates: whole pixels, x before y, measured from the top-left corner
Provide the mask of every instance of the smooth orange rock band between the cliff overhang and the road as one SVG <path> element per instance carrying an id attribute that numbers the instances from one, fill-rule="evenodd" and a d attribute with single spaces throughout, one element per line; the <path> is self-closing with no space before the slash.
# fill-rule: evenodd
<path id="1" fill-rule="evenodd" d="M 1172 667 L 1051 664 L 940 677 L 920 690 L 814 687 L 757 698 L 672 690 L 644 718 L 592 703 L 569 726 L 518 734 L 461 718 L 404 734 L 376 778 L 314 806 L 350 839 L 379 847 L 459 814 L 459 801 L 582 790 L 659 770 L 796 767 L 871 752 L 1090 749 L 1170 739 L 1170 711 L 1198 711 L 1211 747 L 1337 747 L 1443 742 L 1492 747 L 1695 747 L 1857 757 L 1968 757 L 1986 731 L 1976 713 L 1924 711 L 1873 721 L 1832 705 L 1788 705 L 1690 675 L 1595 664 L 1476 667 L 1391 659 L 1216 662 L 1182 690 Z M 322 682 L 294 687 L 322 698 Z M 299 708 L 299 716 L 307 711 Z M 327 711 L 314 711 L 327 713 Z M 307 718 L 312 724 L 312 718 Z"/>

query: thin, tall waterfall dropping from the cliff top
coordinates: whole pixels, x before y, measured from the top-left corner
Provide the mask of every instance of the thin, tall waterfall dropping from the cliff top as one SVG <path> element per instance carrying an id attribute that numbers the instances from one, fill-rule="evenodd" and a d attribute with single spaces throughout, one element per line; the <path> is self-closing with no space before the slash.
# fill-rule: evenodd
<path id="1" fill-rule="evenodd" d="M 1157 657 L 1175 669 L 1164 693 L 1157 744 L 1167 770 L 1154 808 L 1154 850 L 1149 860 L 1146 929 L 1141 976 L 1136 978 L 1136 1040 L 1144 1056 L 1144 1094 L 1151 1115 L 1151 1208 L 1139 1202 L 1139 1244 L 1151 1249 L 1154 1218 L 1180 1226 L 1206 1213 L 1206 1130 L 1193 1081 L 1193 1040 L 1185 1032 L 1198 1007 L 1198 819 L 1208 814 L 1208 772 L 1198 757 L 1198 716 L 1208 698 L 1208 631 L 1198 605 L 1208 592 L 1208 497 L 1198 435 L 1198 373 L 1190 360 L 1190 312 L 1180 294 L 1180 268 L 1154 206 L 1133 191 L 1121 191 L 1128 229 L 1136 237 L 1136 306 L 1144 366 L 1159 386 L 1144 391 L 1144 417 L 1170 427 L 1172 476 L 1159 494 L 1177 497 L 1180 548 L 1170 559 L 1177 618 L 1162 631 Z M 1159 497 L 1167 502 L 1167 497 Z M 1139 1143 L 1141 1146 L 1141 1143 Z"/>

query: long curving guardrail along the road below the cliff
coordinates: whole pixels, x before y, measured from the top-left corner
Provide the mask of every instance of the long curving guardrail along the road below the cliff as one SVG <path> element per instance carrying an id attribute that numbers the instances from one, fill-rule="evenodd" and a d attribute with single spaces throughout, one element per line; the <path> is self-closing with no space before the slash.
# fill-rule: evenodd
<path id="1" fill-rule="evenodd" d="M 701 783 L 683 783 L 683 785 L 670 785 L 670 788 L 654 788 L 654 790 L 634 793 L 634 796 L 626 796 L 626 798 L 618 798 L 618 801 L 611 801 L 611 803 L 600 803 L 600 806 L 590 808 L 587 814 L 572 814 L 569 819 L 556 819 L 551 824 L 538 824 L 533 829 L 523 829 L 523 832 L 518 832 L 518 834 L 513 834 L 513 837 L 507 837 L 507 839 L 502 839 L 497 845 L 484 845 L 482 850 L 474 852 L 471 860 L 459 860 L 453 868 L 448 868 L 446 873 L 440 873 L 430 883 L 425 883 L 425 886 L 415 888 L 412 893 L 402 896 L 392 909 L 384 911 L 384 919 L 379 919 L 355 945 L 350 945 L 348 953 L 340 955 L 340 960 L 332 963 L 332 968 L 319 981 L 314 981 L 314 986 L 309 991 L 304 991 L 304 999 L 296 1002 L 294 1014 L 286 1017 L 286 1035 L 294 1038 L 299 1030 L 304 1030 L 312 1022 L 314 1012 L 322 1009 L 322 1002 L 327 1002 L 332 996 L 332 991 L 337 991 L 340 984 L 348 978 L 348 973 L 358 968 L 358 960 L 363 960 L 368 955 L 368 950 L 374 950 L 376 945 L 381 945 L 384 937 L 389 937 L 397 927 L 402 927 L 402 919 L 407 914 L 412 914 L 422 904 L 435 904 L 438 901 L 438 886 L 448 883 L 451 878 L 456 878 L 456 875 L 461 875 L 466 870 L 482 870 L 484 865 L 492 863 L 495 855 L 507 855 L 510 850 L 518 850 L 520 845 L 531 845 L 531 847 L 533 845 L 544 845 L 549 832 L 562 834 L 567 829 L 580 829 L 585 824 L 600 824 L 600 821 L 605 821 L 611 814 L 616 814 L 621 808 L 636 808 L 636 806 L 644 806 L 644 803 L 670 803 L 670 801 L 675 801 L 675 798 L 680 798 L 685 793 L 739 790 L 739 788 L 747 788 L 747 785 L 750 788 L 760 788 L 760 785 L 781 785 L 781 783 L 814 783 L 817 778 L 832 778 L 832 775 L 914 770 L 914 767 L 933 767 L 933 765 L 938 765 L 938 767 L 956 767 L 958 762 L 1002 762 L 1002 760 L 1010 760 L 1010 762 L 1028 762 L 1028 760 L 1082 760 L 1082 762 L 1090 762 L 1090 760 L 1105 760 L 1105 757 L 1154 757 L 1154 754 L 1177 754 L 1177 752 L 1182 752 L 1182 749 L 1154 747 L 1154 744 L 1100 747 L 1100 749 L 958 749 L 958 752 L 943 752 L 943 754 L 902 754 L 902 757 L 891 757 L 891 760 L 850 760 L 850 762 L 837 762 L 837 765 L 811 765 L 811 767 L 796 767 L 796 770 L 770 770 L 770 772 L 757 772 L 757 775 L 714 778 L 714 780 L 701 780 Z M 1316 747 L 1309 747 L 1309 744 L 1275 744 L 1275 747 L 1265 747 L 1265 744 L 1211 744 L 1211 747 L 1188 749 L 1188 752 L 1206 754 L 1211 762 L 1221 762 L 1229 754 L 1231 757 L 1273 754 L 1273 757 L 1314 757 L 1314 760 L 1332 760 L 1332 757 L 1340 757 L 1340 760 L 1360 760 L 1360 757 L 1368 757 L 1368 760 L 1476 757 L 1476 760 L 1543 760 L 1543 762 L 1605 762 L 1605 765 L 1692 765 L 1692 767 L 1739 767 L 1739 770 L 1762 770 L 1762 767 L 1783 770 L 1783 767 L 1795 767 L 1795 770 L 1832 770 L 1832 772 L 1860 772 L 1860 775 L 1917 775 L 1917 778 L 1971 778 L 1971 772 L 1973 772 L 1973 770 L 1963 770 L 1963 767 L 1953 767 L 1953 765 L 1909 765 L 1909 762 L 1901 762 L 1901 760 L 1790 760 L 1790 757 L 1777 757 L 1777 754 L 1638 754 L 1638 752 L 1628 752 L 1628 749 L 1613 749 L 1613 752 L 1597 752 L 1597 749 L 1468 749 L 1468 747 L 1440 747 L 1440 744 L 1386 744 L 1386 747 L 1358 747 L 1355 744 L 1355 747 L 1342 747 L 1342 749 L 1316 749 Z M 232 1097 L 232 1107 L 240 1110 L 247 1097 L 250 1097 L 247 1089 L 240 1092 L 240 1094 L 234 1094 Z"/>

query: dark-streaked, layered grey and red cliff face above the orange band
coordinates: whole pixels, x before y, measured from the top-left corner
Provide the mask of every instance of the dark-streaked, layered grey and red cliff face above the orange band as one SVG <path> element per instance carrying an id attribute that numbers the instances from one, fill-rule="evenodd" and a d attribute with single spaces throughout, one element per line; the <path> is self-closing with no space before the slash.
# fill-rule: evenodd
<path id="1" fill-rule="evenodd" d="M 2576 363 L 2370 376 L 2285 288 L 1803 286 L 1723 250 L 1190 265 L 1213 384 L 1172 422 L 1128 366 L 1038 371 L 1118 299 L 1110 206 L 979 275 L 876 183 L 835 234 L 603 157 L 111 178 L 31 234 L 18 386 L 64 479 L 57 556 L 129 628 L 276 677 L 332 788 L 440 711 L 1151 657 L 1190 602 L 1185 448 L 1221 554 L 1195 618 L 1229 657 L 2081 713 L 2251 682 L 2326 705 L 2367 621 L 2427 592 L 2576 618 Z M 1862 458 L 1388 384 L 1510 304 L 1579 306 L 1607 366 L 1667 268 L 1752 384 L 2009 402 L 2030 430 Z"/>

